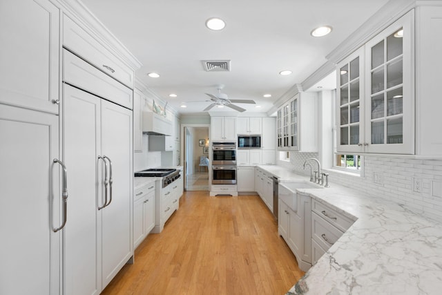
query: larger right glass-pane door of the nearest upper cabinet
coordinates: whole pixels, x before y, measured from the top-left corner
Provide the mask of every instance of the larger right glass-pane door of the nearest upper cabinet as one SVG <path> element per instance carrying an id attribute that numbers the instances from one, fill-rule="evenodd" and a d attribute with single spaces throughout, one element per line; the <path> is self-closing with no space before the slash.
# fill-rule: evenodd
<path id="1" fill-rule="evenodd" d="M 365 152 L 414 153 L 412 12 L 365 45 Z"/>

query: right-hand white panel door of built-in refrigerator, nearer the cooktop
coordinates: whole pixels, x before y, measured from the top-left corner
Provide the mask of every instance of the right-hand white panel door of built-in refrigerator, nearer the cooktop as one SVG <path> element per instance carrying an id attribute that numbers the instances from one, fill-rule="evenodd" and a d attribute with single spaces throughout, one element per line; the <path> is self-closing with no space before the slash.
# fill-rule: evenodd
<path id="1" fill-rule="evenodd" d="M 112 202 L 102 213 L 105 287 L 133 255 L 132 111 L 102 99 L 102 155 L 112 161 Z"/>

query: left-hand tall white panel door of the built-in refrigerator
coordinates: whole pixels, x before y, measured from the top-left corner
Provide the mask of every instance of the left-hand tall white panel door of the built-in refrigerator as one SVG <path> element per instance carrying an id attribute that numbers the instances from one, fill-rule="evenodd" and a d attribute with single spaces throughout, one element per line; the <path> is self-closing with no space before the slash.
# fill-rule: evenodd
<path id="1" fill-rule="evenodd" d="M 65 292 L 99 294 L 97 185 L 100 101 L 64 84 L 64 160 L 69 166 L 69 222 L 64 233 Z M 101 179 L 101 178 L 100 178 Z"/>

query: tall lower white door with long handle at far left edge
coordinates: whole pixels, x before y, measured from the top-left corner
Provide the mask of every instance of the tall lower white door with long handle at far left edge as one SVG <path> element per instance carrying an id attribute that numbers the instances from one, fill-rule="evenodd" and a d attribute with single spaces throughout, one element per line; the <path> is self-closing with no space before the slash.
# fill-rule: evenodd
<path id="1" fill-rule="evenodd" d="M 0 104 L 0 138 L 0 293 L 61 294 L 58 117 Z"/>

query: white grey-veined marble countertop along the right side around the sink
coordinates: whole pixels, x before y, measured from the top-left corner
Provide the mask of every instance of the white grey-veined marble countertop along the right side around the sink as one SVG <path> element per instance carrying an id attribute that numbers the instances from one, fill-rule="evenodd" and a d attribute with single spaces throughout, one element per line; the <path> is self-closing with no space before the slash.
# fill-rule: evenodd
<path id="1" fill-rule="evenodd" d="M 282 182 L 308 181 L 280 166 L 260 168 Z M 441 223 L 369 193 L 330 185 L 298 191 L 356 222 L 287 295 L 442 294 Z"/>

